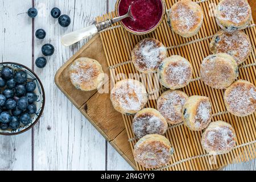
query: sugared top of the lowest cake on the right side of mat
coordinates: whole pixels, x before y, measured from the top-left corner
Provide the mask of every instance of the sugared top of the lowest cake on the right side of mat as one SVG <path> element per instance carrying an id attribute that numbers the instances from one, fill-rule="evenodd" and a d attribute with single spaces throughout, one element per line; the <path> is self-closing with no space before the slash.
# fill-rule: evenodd
<path id="1" fill-rule="evenodd" d="M 229 151 L 236 146 L 236 135 L 228 126 L 210 129 L 205 138 L 204 145 L 209 151 Z"/>

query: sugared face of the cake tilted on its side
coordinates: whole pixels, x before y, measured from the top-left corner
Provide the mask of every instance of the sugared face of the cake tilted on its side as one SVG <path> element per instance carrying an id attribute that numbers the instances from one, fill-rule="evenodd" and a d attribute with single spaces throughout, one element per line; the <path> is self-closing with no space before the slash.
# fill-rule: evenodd
<path id="1" fill-rule="evenodd" d="M 212 119 L 212 108 L 209 101 L 201 101 L 196 110 L 195 126 L 205 128 Z"/>

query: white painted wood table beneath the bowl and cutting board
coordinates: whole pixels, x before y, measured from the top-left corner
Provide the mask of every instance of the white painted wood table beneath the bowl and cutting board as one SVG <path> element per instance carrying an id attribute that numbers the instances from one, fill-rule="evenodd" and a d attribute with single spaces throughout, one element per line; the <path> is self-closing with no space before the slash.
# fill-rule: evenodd
<path id="1" fill-rule="evenodd" d="M 77 46 L 61 46 L 61 35 L 88 26 L 97 15 L 114 10 L 115 0 L 1 0 L 0 59 L 33 69 L 46 92 L 46 106 L 34 129 L 14 137 L 0 136 L 0 170 L 132 170 L 96 129 L 80 114 L 54 84 L 57 71 L 86 40 Z M 35 20 L 26 11 L 35 6 Z M 50 11 L 59 7 L 72 23 L 60 27 Z M 44 40 L 35 38 L 38 28 L 47 32 Z M 45 68 L 35 67 L 45 43 L 55 46 Z M 226 169 L 255 170 L 256 162 L 234 164 Z"/>

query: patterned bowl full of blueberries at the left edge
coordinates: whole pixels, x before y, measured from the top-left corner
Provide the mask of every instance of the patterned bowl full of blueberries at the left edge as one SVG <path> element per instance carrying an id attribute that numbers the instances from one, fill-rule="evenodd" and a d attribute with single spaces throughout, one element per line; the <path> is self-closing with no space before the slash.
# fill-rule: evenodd
<path id="1" fill-rule="evenodd" d="M 18 63 L 0 63 L 0 135 L 30 130 L 44 109 L 42 82 Z"/>

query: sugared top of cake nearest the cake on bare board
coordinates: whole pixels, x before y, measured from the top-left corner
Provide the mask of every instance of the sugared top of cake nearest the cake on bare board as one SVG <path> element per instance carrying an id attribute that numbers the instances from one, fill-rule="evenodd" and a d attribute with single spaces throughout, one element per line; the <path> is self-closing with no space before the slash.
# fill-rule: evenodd
<path id="1" fill-rule="evenodd" d="M 146 90 L 135 84 L 135 80 L 126 80 L 112 92 L 114 100 L 125 110 L 141 110 L 145 104 Z"/>

